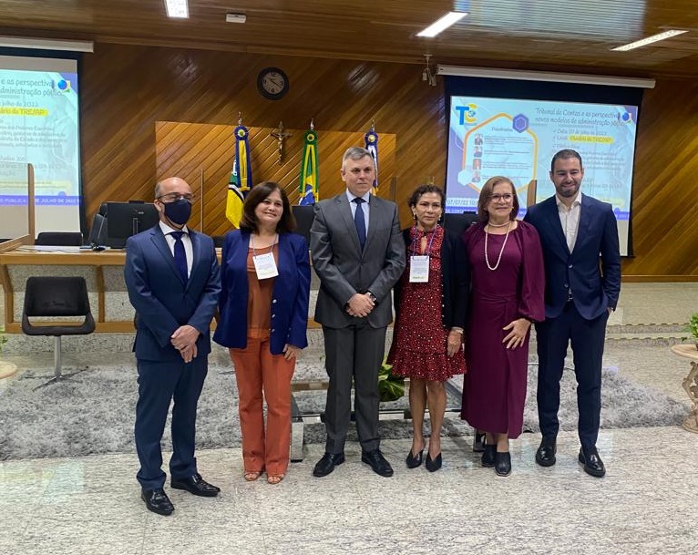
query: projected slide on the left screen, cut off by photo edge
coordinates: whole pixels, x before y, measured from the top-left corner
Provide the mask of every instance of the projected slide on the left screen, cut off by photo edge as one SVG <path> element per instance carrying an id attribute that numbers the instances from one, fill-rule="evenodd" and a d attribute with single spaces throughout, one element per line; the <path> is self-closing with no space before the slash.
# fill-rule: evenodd
<path id="1" fill-rule="evenodd" d="M 80 229 L 77 91 L 75 60 L 0 57 L 0 208 L 27 203 L 26 180 L 7 162 L 31 163 L 36 231 Z"/>

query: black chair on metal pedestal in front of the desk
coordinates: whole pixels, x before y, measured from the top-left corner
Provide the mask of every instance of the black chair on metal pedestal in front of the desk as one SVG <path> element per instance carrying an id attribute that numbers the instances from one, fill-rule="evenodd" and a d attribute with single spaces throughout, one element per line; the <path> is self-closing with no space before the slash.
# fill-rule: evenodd
<path id="1" fill-rule="evenodd" d="M 56 322 L 34 325 L 29 318 L 56 316 L 83 316 L 82 324 Z M 54 375 L 44 385 L 65 380 L 71 375 L 61 373 L 61 336 L 86 335 L 95 331 L 95 319 L 89 309 L 87 283 L 83 277 L 33 276 L 26 280 L 25 307 L 22 313 L 22 331 L 27 335 L 53 335 Z M 48 377 L 48 376 L 36 376 Z"/>

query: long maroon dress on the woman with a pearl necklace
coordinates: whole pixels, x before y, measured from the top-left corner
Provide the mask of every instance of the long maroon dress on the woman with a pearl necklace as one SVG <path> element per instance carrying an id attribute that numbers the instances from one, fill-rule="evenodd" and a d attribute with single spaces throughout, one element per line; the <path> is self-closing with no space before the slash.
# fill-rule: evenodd
<path id="1" fill-rule="evenodd" d="M 488 237 L 490 266 L 497 263 L 504 235 Z M 470 315 L 466 328 L 467 375 L 461 417 L 472 427 L 516 438 L 523 427 L 529 365 L 529 334 L 522 346 L 507 349 L 504 326 L 520 317 L 545 318 L 545 272 L 538 232 L 525 221 L 509 232 L 501 262 L 485 262 L 485 228 L 464 235 L 471 272 Z"/>

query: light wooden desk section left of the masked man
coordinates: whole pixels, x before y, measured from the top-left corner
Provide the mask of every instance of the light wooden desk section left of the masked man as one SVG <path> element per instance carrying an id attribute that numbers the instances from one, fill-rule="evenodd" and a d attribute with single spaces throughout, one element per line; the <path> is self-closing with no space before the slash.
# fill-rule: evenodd
<path id="1" fill-rule="evenodd" d="M 0 280 L 5 290 L 5 333 L 22 333 L 26 278 L 32 275 L 84 277 L 97 324 L 95 331 L 112 334 L 133 332 L 133 308 L 128 303 L 124 283 L 125 260 L 126 252 L 111 250 L 46 252 L 22 247 L 0 252 Z"/>

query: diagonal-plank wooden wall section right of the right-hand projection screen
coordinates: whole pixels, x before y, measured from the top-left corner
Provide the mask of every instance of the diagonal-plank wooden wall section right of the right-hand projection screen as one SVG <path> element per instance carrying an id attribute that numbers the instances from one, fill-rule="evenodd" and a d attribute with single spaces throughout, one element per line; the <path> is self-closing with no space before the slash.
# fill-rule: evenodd
<path id="1" fill-rule="evenodd" d="M 623 273 L 698 276 L 698 83 L 645 91 L 638 124 L 632 237 Z"/>

